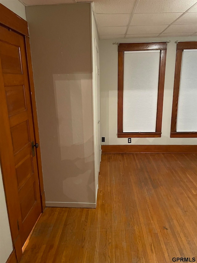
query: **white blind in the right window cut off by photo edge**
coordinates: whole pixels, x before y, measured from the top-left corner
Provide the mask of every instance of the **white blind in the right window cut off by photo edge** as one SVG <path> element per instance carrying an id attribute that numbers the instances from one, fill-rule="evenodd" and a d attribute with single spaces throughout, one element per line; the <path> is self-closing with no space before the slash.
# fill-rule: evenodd
<path id="1" fill-rule="evenodd" d="M 197 50 L 183 50 L 177 132 L 197 131 Z"/>

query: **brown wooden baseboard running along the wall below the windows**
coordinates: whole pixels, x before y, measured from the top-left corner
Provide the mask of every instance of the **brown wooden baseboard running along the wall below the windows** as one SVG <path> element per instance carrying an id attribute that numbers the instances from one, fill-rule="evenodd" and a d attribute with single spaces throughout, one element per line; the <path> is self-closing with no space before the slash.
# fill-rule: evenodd
<path id="1" fill-rule="evenodd" d="M 102 153 L 197 153 L 197 145 L 102 145 Z"/>

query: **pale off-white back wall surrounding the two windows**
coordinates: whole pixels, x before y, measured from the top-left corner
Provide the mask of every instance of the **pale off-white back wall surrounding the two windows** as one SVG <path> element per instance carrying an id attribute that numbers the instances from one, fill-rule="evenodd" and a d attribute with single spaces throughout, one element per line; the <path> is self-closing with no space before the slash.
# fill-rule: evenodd
<path id="1" fill-rule="evenodd" d="M 197 138 L 170 138 L 172 97 L 174 87 L 176 40 L 196 40 L 196 37 L 151 38 L 151 39 L 105 39 L 100 40 L 100 92 L 101 92 L 101 136 L 102 144 L 128 144 L 127 138 L 117 138 L 118 103 L 118 47 L 115 42 L 151 42 L 171 40 L 167 44 L 166 74 L 163 98 L 161 138 L 131 138 L 132 144 L 197 144 Z"/>

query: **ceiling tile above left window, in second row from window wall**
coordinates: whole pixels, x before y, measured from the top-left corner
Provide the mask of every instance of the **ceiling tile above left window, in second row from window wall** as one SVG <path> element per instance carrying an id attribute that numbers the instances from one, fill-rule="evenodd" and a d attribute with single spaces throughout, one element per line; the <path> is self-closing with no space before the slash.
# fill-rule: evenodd
<path id="1" fill-rule="evenodd" d="M 131 26 L 127 34 L 156 34 L 161 33 L 168 25 L 157 25 L 157 26 Z"/>

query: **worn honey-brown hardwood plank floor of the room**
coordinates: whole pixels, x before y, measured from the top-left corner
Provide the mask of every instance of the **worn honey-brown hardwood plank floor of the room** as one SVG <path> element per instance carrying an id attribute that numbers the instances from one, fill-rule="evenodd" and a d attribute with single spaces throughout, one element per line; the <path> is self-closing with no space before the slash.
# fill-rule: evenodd
<path id="1" fill-rule="evenodd" d="M 197 154 L 103 154 L 97 208 L 46 208 L 21 263 L 173 257 L 197 260 Z"/>

